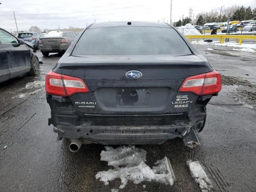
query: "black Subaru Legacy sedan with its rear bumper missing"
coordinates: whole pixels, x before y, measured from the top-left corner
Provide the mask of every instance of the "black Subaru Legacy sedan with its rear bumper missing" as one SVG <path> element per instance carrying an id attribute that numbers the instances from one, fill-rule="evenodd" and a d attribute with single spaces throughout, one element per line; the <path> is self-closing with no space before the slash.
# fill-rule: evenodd
<path id="1" fill-rule="evenodd" d="M 206 105 L 221 90 L 213 70 L 176 28 L 159 22 L 106 22 L 84 29 L 46 75 L 48 124 L 81 144 L 162 144 L 190 148 Z"/>

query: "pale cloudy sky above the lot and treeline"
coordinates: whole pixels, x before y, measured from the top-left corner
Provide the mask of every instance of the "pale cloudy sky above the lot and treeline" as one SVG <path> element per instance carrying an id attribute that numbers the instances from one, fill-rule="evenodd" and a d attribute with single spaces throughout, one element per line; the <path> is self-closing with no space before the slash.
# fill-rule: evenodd
<path id="1" fill-rule="evenodd" d="M 85 28 L 94 22 L 154 21 L 170 23 L 171 0 L 0 0 L 0 27 L 16 31 L 30 26 L 61 29 Z M 202 11 L 218 11 L 221 6 L 256 7 L 256 0 L 172 0 L 172 21 L 188 16 L 192 7 L 196 16 Z"/>

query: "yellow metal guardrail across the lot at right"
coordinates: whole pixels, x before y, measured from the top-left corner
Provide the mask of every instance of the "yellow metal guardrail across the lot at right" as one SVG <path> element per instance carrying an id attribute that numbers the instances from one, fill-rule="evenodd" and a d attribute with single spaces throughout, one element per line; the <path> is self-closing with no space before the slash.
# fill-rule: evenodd
<path id="1" fill-rule="evenodd" d="M 217 38 L 220 39 L 220 43 L 224 43 L 224 39 L 236 39 L 236 42 L 239 42 L 239 45 L 242 45 L 243 39 L 253 39 L 256 40 L 256 36 L 254 35 L 185 35 L 186 38 L 190 39 L 190 42 L 192 42 L 192 39 L 196 39 L 196 42 L 198 42 L 198 39 L 206 39 L 206 38 Z"/>

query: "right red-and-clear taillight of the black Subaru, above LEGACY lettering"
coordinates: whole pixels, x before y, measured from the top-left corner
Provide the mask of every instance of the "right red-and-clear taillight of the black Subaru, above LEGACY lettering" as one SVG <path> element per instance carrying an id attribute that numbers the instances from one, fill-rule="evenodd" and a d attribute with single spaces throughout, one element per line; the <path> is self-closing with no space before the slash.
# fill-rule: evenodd
<path id="1" fill-rule="evenodd" d="M 210 95 L 220 92 L 221 75 L 212 72 L 188 77 L 180 86 L 179 92 L 192 92 L 197 95 Z"/>

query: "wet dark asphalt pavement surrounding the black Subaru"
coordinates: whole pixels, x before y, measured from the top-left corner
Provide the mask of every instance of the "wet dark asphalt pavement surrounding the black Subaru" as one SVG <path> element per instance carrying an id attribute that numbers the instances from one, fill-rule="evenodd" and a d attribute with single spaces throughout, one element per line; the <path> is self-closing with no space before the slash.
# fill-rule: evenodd
<path id="1" fill-rule="evenodd" d="M 206 167 L 215 191 L 256 191 L 256 53 L 222 46 L 196 47 L 224 76 L 222 91 L 207 106 L 206 126 L 198 134 L 201 145 L 190 150 L 181 139 L 175 139 L 162 145 L 137 146 L 148 152 L 150 166 L 167 156 L 176 182 L 173 186 L 128 182 L 119 192 L 200 192 L 186 167 L 190 159 Z M 33 88 L 25 89 L 26 84 L 43 81 L 60 58 L 58 54 L 46 58 L 40 52 L 36 54 L 43 62 L 40 75 L 0 84 L 0 191 L 110 192 L 118 188 L 120 180 L 105 186 L 95 178 L 98 171 L 111 168 L 100 161 L 104 146 L 84 145 L 72 153 L 67 140 L 56 141 L 53 127 L 47 125 L 50 107 L 43 87 L 36 94 L 19 98 L 20 94 L 33 92 Z"/>

